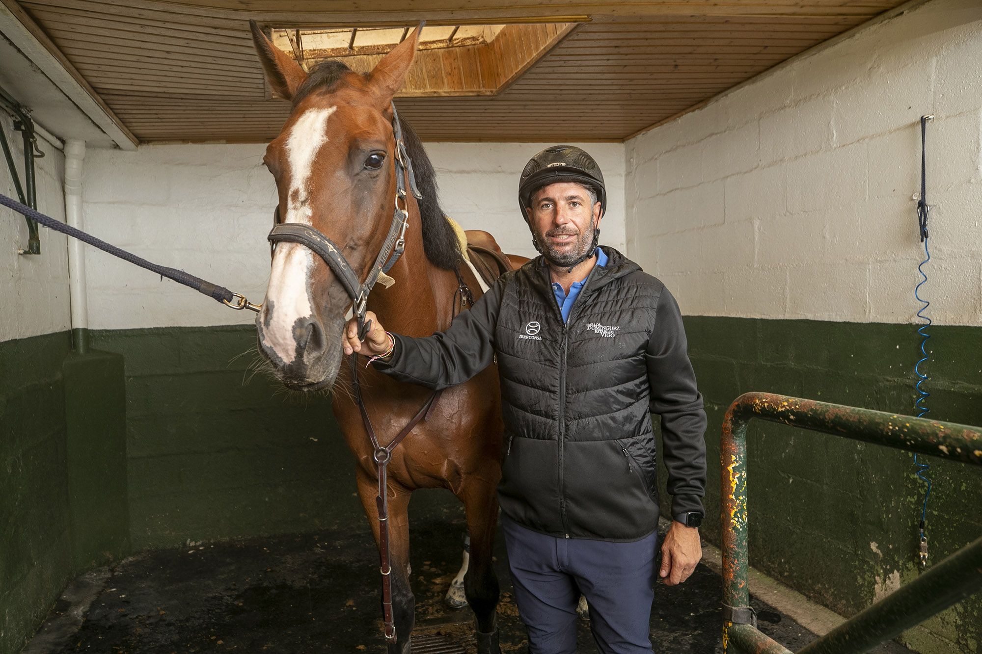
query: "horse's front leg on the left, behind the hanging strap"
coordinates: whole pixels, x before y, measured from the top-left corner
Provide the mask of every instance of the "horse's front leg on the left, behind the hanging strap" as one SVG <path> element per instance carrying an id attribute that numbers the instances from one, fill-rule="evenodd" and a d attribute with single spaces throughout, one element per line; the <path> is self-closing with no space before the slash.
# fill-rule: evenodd
<path id="1" fill-rule="evenodd" d="M 378 544 L 379 522 L 375 498 L 378 480 L 360 467 L 357 472 L 358 496 L 365 516 L 371 523 Z M 388 488 L 389 493 L 389 563 L 392 572 L 392 614 L 396 623 L 396 642 L 389 644 L 388 654 L 410 654 L 412 627 L 415 623 L 416 599 L 409 587 L 409 493 L 405 488 Z M 376 576 L 378 579 L 378 576 Z M 381 580 L 377 580 L 381 583 Z"/>

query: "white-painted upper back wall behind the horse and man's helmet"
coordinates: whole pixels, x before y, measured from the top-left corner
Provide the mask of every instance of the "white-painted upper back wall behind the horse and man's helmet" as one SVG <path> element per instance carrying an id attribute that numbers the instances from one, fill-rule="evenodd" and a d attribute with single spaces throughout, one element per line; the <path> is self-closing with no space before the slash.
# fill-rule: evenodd
<path id="1" fill-rule="evenodd" d="M 444 210 L 464 229 L 491 232 L 509 252 L 534 250 L 518 213 L 518 175 L 552 143 L 429 143 Z M 583 144 L 609 190 L 601 242 L 624 249 L 624 145 Z M 82 196 L 88 231 L 155 263 L 181 268 L 261 301 L 266 234 L 276 204 L 265 145 L 149 145 L 90 149 Z M 225 325 L 254 320 L 103 252 L 86 254 L 92 329 Z"/>

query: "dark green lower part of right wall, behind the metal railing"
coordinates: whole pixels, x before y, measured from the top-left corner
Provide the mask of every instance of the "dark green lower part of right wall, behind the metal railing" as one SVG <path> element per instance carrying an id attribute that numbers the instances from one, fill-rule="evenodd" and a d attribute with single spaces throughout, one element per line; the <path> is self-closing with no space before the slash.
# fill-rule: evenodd
<path id="1" fill-rule="evenodd" d="M 689 354 L 709 416 L 704 533 L 719 542 L 719 434 L 730 403 L 766 391 L 911 413 L 919 337 L 912 325 L 689 316 Z M 982 425 L 982 329 L 932 327 L 922 367 L 930 417 Z M 852 615 L 917 575 L 923 488 L 913 457 L 763 422 L 748 431 L 751 565 Z M 982 534 L 982 470 L 929 459 L 930 557 Z M 905 633 L 922 652 L 982 651 L 982 596 Z"/>

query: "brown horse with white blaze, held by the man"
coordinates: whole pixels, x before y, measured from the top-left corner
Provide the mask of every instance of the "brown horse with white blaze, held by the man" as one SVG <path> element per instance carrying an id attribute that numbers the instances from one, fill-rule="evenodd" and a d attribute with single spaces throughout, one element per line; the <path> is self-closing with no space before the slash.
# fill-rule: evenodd
<path id="1" fill-rule="evenodd" d="M 343 255 L 344 264 L 338 265 L 349 264 L 359 282 L 374 272 L 376 257 L 390 245 L 387 234 L 392 234 L 396 177 L 402 170 L 396 165 L 400 152 L 392 99 L 409 70 L 418 32 L 417 28 L 368 75 L 353 73 L 338 62 L 321 64 L 308 75 L 252 25 L 269 85 L 293 103 L 281 134 L 264 157 L 279 191 L 278 220 L 312 227 L 330 239 L 331 249 L 336 246 Z M 405 253 L 388 270 L 395 284 L 376 286 L 367 308 L 400 333 L 427 336 L 446 329 L 466 308 L 464 285 L 475 298 L 480 287 L 437 204 L 432 166 L 405 124 L 404 140 L 421 199 L 408 193 L 405 205 L 396 200 L 397 217 L 402 208 L 408 210 Z M 403 180 L 404 185 L 409 182 Z M 337 383 L 352 388 L 352 372 L 342 365 L 341 347 L 346 312 L 353 306 L 346 276 L 351 277 L 345 269 L 329 267 L 307 245 L 275 245 L 256 328 L 259 351 L 288 387 L 312 391 Z M 391 281 L 382 279 L 383 284 Z M 362 359 L 359 367 L 363 365 Z M 366 413 L 382 446 L 391 443 L 430 398 L 427 390 L 393 381 L 371 367 L 358 376 Z M 475 614 L 479 651 L 499 651 L 495 618 L 499 588 L 491 550 L 498 517 L 495 489 L 501 476 L 500 402 L 497 373 L 489 368 L 444 391 L 428 417 L 392 454 L 387 494 L 397 642 L 390 643 L 390 653 L 409 653 L 414 599 L 409 587 L 407 509 L 409 494 L 417 488 L 448 488 L 464 503 L 470 537 L 464 592 Z M 377 542 L 373 448 L 351 394 L 335 392 L 333 408 L 355 454 L 358 494 Z"/>

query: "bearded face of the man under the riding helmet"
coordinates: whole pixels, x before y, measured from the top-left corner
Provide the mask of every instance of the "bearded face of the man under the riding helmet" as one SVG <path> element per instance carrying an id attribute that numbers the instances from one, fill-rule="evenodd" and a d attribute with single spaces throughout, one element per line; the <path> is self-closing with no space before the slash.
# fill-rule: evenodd
<path id="1" fill-rule="evenodd" d="M 546 258 L 563 266 L 585 254 L 593 245 L 593 230 L 600 227 L 600 202 L 575 182 L 558 182 L 532 195 L 527 207 L 535 241 Z"/>

